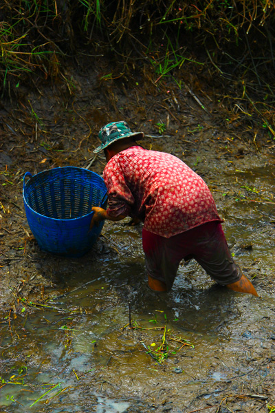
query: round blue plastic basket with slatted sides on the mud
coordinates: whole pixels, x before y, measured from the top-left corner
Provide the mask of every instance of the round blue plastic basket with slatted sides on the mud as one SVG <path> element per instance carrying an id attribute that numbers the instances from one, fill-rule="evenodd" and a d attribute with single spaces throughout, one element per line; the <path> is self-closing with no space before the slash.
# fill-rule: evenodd
<path id="1" fill-rule="evenodd" d="M 25 182 L 29 177 L 30 180 Z M 104 222 L 89 231 L 92 207 L 107 207 L 104 180 L 76 167 L 54 168 L 23 178 L 23 200 L 30 229 L 43 251 L 81 257 L 98 239 Z"/>

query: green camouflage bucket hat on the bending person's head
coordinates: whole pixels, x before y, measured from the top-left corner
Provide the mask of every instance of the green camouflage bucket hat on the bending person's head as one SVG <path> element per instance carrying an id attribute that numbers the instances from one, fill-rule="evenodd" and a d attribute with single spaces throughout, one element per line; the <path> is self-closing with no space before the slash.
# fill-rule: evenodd
<path id="1" fill-rule="evenodd" d="M 100 138 L 102 144 L 94 150 L 94 153 L 102 151 L 102 149 L 111 145 L 116 140 L 129 138 L 129 136 L 135 136 L 135 139 L 142 139 L 144 133 L 132 132 L 124 120 L 108 123 L 108 125 L 102 127 L 99 131 L 98 138 Z"/>

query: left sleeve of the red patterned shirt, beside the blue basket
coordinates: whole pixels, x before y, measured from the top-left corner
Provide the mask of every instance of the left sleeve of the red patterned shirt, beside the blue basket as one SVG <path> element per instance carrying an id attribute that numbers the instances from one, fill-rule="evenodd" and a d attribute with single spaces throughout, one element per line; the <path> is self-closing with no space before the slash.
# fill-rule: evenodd
<path id="1" fill-rule="evenodd" d="M 118 215 L 129 216 L 135 199 L 126 184 L 123 165 L 120 160 L 110 160 L 104 169 L 104 182 L 108 191 L 107 214 L 111 217 Z"/>

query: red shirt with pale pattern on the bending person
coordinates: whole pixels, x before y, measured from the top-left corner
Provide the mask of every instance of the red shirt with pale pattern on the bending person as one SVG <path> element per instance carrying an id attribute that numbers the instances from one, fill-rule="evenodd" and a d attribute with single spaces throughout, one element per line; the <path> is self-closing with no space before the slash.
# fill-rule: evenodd
<path id="1" fill-rule="evenodd" d="M 219 218 L 206 183 L 179 158 L 139 146 L 107 163 L 107 213 L 140 218 L 144 229 L 169 238 Z"/>

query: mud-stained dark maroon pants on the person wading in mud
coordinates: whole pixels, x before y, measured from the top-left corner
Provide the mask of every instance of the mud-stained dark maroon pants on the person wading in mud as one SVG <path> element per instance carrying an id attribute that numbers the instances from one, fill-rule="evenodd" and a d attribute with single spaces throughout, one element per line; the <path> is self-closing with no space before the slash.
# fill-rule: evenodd
<path id="1" fill-rule="evenodd" d="M 219 222 L 207 222 L 170 238 L 142 230 L 142 245 L 148 275 L 170 290 L 179 262 L 190 257 L 218 284 L 239 281 L 241 270 L 234 262 Z"/>

